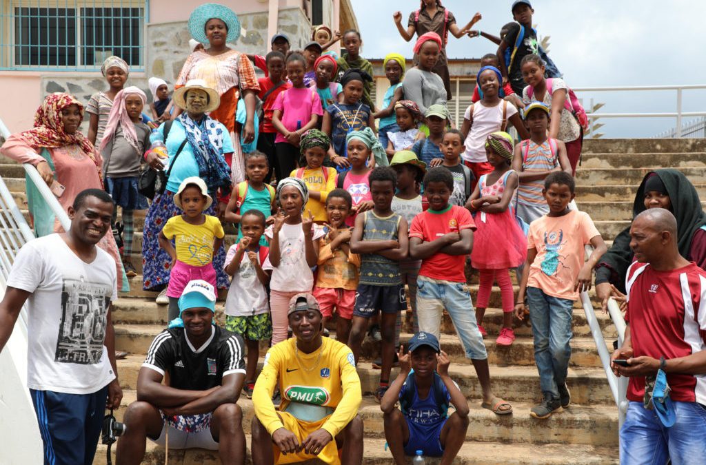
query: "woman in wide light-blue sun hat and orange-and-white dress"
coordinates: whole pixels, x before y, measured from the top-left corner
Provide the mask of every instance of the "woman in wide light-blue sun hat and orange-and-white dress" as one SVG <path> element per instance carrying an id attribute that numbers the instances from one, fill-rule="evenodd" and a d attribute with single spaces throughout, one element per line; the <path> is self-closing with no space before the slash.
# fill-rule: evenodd
<path id="1" fill-rule="evenodd" d="M 210 117 L 220 121 L 233 135 L 232 160 L 226 161 L 232 169 L 234 183 L 244 180 L 242 142 L 249 144 L 255 138 L 255 96 L 260 86 L 251 61 L 245 54 L 231 49 L 227 44 L 240 37 L 240 20 L 227 6 L 203 4 L 191 12 L 189 32 L 203 49 L 196 49 L 181 68 L 174 89 L 184 87 L 191 79 L 203 79 L 206 85 L 220 95 L 220 106 L 210 112 Z M 246 111 L 245 123 L 236 130 L 235 115 L 238 102 L 243 99 Z M 241 104 L 241 107 L 243 104 Z M 179 111 L 174 112 L 174 117 Z"/>

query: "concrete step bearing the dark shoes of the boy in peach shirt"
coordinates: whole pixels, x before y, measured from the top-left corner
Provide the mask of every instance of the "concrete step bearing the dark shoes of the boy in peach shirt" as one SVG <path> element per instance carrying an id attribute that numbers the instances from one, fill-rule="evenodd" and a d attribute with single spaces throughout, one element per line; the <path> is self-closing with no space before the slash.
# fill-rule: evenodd
<path id="1" fill-rule="evenodd" d="M 123 406 L 136 399 L 136 392 L 124 392 L 116 418 L 121 421 Z M 241 396 L 238 404 L 243 409 L 245 433 L 249 433 L 253 402 Z M 479 403 L 469 403 L 467 441 L 513 442 L 514 444 L 568 443 L 610 447 L 618 445 L 618 410 L 616 406 L 570 406 L 546 420 L 530 416 L 532 403 L 513 402 L 513 413 L 496 415 L 483 409 Z M 358 415 L 363 420 L 366 438 L 384 440 L 383 414 L 372 397 L 364 397 Z"/>

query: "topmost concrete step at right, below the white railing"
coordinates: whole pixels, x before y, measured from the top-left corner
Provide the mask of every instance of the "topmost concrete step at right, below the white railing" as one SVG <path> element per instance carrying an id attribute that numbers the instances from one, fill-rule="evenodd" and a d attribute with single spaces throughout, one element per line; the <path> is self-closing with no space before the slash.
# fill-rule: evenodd
<path id="1" fill-rule="evenodd" d="M 706 152 L 706 139 L 584 139 L 582 155 L 592 153 Z"/>

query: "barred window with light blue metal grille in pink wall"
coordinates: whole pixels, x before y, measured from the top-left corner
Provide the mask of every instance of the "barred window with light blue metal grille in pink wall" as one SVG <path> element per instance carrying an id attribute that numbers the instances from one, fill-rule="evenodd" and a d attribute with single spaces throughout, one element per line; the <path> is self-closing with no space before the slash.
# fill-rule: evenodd
<path id="1" fill-rule="evenodd" d="M 95 71 L 117 55 L 142 71 L 144 25 L 145 0 L 0 1 L 0 69 Z"/>

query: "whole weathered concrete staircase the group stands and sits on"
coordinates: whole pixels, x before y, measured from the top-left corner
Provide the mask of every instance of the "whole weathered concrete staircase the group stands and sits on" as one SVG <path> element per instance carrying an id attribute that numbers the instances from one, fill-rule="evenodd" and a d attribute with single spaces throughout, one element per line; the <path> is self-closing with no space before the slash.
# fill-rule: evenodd
<path id="1" fill-rule="evenodd" d="M 627 227 L 632 216 L 635 192 L 642 177 L 657 167 L 681 169 L 694 183 L 702 199 L 706 199 L 706 141 L 705 140 L 587 140 L 583 162 L 577 171 L 576 201 L 581 210 L 591 215 L 606 241 Z M 7 159 L 0 158 L 0 176 L 13 192 L 20 208 L 26 209 L 23 170 Z M 141 222 L 136 219 L 136 229 Z M 231 231 L 232 232 L 232 231 Z M 227 244 L 234 236 L 227 236 Z M 135 236 L 133 262 L 141 268 L 142 234 Z M 477 295 L 477 274 L 469 272 L 472 296 Z M 113 320 L 116 325 L 116 349 L 131 353 L 119 361 L 119 378 L 124 389 L 123 405 L 136 399 L 136 380 L 140 364 L 152 339 L 166 323 L 166 306 L 154 303 L 156 293 L 142 291 L 138 276 L 131 280 L 132 291 L 121 294 L 114 303 Z M 225 294 L 221 294 L 222 297 Z M 594 301 L 594 307 L 596 303 Z M 222 301 L 219 303 L 222 308 Z M 549 420 L 531 418 L 529 410 L 541 400 L 539 377 L 534 366 L 532 330 L 520 325 L 515 329 L 517 339 L 509 348 L 498 347 L 495 337 L 502 321 L 500 294 L 493 289 L 491 304 L 484 320 L 489 331 L 486 346 L 491 363 L 493 389 L 498 397 L 513 404 L 514 413 L 496 416 L 480 407 L 480 387 L 469 361 L 463 356 L 462 346 L 453 332 L 448 315 L 442 322 L 441 344 L 452 358 L 451 374 L 469 399 L 471 411 L 467 442 L 456 463 L 470 464 L 617 464 L 618 414 L 605 375 L 590 336 L 583 310 L 575 306 L 568 387 L 572 405 Z M 222 321 L 222 313 L 219 312 Z M 609 318 L 598 315 L 609 344 L 616 339 L 614 325 Z M 412 331 L 409 319 L 405 322 L 402 341 Z M 334 335 L 332 334 L 332 337 Z M 261 356 L 265 347 L 261 347 Z M 382 414 L 372 393 L 376 389 L 379 371 L 371 368 L 371 360 L 378 354 L 373 342 L 366 340 L 364 358 L 358 372 L 364 391 L 360 414 L 365 423 L 365 463 L 391 464 L 385 451 Z M 393 379 L 397 369 L 393 369 Z M 239 404 L 246 412 L 244 430 L 248 436 L 253 416 L 252 402 L 242 397 Z M 121 418 L 124 408 L 119 409 Z M 106 461 L 105 448 L 99 447 L 95 464 Z M 148 442 L 146 464 L 164 463 L 164 450 Z M 217 454 L 203 450 L 170 452 L 169 464 L 218 464 Z"/>

